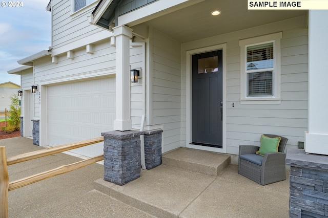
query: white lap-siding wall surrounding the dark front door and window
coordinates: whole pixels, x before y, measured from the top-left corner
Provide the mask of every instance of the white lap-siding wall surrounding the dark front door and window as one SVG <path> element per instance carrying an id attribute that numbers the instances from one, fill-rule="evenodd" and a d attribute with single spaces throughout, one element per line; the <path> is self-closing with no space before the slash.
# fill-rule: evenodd
<path id="1" fill-rule="evenodd" d="M 308 30 L 303 17 L 211 37 L 182 45 L 182 81 L 186 81 L 186 51 L 227 43 L 227 153 L 238 154 L 241 144 L 258 144 L 260 134 L 285 136 L 288 147 L 304 141 L 308 125 Z M 282 31 L 281 103 L 240 104 L 239 40 Z M 188 73 L 188 72 L 187 72 Z M 186 95 L 182 83 L 182 96 Z M 186 101 L 182 104 L 186 105 Z M 234 107 L 232 107 L 234 104 Z M 182 114 L 186 115 L 185 106 Z M 186 123 L 182 123 L 186 132 Z M 183 136 L 185 139 L 186 136 Z"/>

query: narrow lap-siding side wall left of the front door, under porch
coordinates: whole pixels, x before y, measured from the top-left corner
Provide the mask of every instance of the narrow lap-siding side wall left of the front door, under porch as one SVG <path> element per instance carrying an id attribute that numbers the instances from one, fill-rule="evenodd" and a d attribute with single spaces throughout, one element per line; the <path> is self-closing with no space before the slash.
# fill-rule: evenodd
<path id="1" fill-rule="evenodd" d="M 164 152 L 180 147 L 180 43 L 153 31 L 153 121 L 163 124 Z"/>

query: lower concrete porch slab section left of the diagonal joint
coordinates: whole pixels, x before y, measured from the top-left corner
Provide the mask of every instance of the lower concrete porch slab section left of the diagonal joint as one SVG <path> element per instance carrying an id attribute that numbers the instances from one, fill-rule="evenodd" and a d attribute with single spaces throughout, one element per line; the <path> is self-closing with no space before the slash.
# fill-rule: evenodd
<path id="1" fill-rule="evenodd" d="M 218 177 L 160 165 L 141 170 L 141 176 L 119 186 L 104 179 L 95 189 L 111 198 L 155 217 L 183 217 L 181 214 Z"/>

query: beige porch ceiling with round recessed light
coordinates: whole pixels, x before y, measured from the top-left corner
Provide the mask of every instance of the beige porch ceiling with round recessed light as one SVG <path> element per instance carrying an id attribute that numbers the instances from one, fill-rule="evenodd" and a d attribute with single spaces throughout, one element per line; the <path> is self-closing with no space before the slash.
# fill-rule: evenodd
<path id="1" fill-rule="evenodd" d="M 221 14 L 212 16 L 213 10 L 220 10 Z M 307 13 L 307 10 L 247 10 L 246 0 L 206 0 L 145 24 L 184 43 Z"/>

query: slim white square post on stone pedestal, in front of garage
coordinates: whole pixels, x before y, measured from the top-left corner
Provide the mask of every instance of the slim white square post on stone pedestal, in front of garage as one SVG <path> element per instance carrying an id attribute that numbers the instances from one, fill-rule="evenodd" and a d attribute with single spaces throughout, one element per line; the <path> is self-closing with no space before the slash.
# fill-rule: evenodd
<path id="1" fill-rule="evenodd" d="M 132 29 L 114 27 L 116 42 L 116 118 L 114 130 L 132 129 L 130 119 L 130 38 Z"/>

